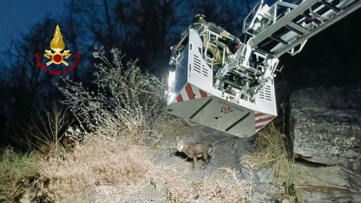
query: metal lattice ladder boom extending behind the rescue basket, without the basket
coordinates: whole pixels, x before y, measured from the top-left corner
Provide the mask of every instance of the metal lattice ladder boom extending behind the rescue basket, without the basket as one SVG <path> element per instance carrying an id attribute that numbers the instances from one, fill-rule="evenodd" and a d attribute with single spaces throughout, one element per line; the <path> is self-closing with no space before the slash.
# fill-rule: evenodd
<path id="1" fill-rule="evenodd" d="M 260 1 L 243 22 L 245 41 L 257 52 L 280 57 L 297 54 L 306 40 L 360 8 L 359 0 Z"/>

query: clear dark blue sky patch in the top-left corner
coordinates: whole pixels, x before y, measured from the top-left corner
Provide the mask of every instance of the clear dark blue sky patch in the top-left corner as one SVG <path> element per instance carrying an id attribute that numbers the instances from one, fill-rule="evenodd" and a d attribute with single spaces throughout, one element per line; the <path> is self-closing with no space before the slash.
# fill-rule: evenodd
<path id="1" fill-rule="evenodd" d="M 11 39 L 21 40 L 21 33 L 45 16 L 61 16 L 64 11 L 63 0 L 1 0 L 0 52 L 9 47 Z"/>

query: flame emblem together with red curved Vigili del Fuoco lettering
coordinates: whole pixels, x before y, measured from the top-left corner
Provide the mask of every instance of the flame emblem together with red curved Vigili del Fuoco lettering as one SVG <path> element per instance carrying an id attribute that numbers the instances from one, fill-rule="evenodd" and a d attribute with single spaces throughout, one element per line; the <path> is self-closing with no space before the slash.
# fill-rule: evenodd
<path id="1" fill-rule="evenodd" d="M 71 54 L 70 54 L 70 50 L 64 50 L 65 44 L 63 41 L 62 33 L 60 33 L 59 25 L 57 25 L 57 27 L 55 28 L 54 37 L 52 38 L 52 42 L 50 42 L 50 49 L 51 50 L 45 50 L 45 54 L 44 54 L 45 57 L 50 59 L 50 61 L 46 63 L 47 64 L 46 66 L 41 62 L 40 52 L 35 54 L 35 58 L 37 62 L 36 65 L 40 69 L 42 69 L 42 71 L 49 72 L 49 74 L 51 75 L 59 76 L 61 74 L 65 74 L 67 72 L 72 71 L 78 65 L 80 54 L 79 52 L 76 52 L 74 63 L 69 68 L 64 68 L 62 70 L 61 69 L 48 70 L 47 66 L 49 66 L 50 64 L 56 64 L 56 65 L 64 64 L 65 66 L 69 65 L 69 63 L 66 62 L 64 59 L 69 58 Z"/>

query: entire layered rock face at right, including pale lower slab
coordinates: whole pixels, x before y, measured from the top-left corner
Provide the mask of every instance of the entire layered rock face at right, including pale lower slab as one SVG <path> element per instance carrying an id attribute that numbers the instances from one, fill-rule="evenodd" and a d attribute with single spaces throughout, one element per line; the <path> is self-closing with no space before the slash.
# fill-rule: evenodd
<path id="1" fill-rule="evenodd" d="M 361 202 L 361 87 L 307 88 L 290 97 L 299 202 Z"/>

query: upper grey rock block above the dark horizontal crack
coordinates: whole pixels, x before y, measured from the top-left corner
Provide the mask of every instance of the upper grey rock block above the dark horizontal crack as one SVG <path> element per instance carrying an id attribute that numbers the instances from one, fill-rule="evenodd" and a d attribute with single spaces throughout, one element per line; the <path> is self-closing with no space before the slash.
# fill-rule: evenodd
<path id="1" fill-rule="evenodd" d="M 361 88 L 309 88 L 291 105 L 296 157 L 361 171 Z"/>

